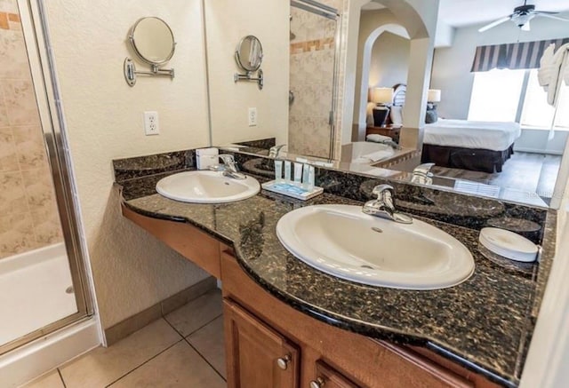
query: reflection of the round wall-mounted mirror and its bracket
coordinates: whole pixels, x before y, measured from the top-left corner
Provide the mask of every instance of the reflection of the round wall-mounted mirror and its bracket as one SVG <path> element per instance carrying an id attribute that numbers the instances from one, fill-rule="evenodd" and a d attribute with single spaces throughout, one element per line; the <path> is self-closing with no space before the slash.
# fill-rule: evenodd
<path id="1" fill-rule="evenodd" d="M 233 80 L 256 82 L 259 89 L 263 89 L 264 78 L 260 64 L 263 61 L 263 46 L 256 36 L 244 36 L 241 39 L 235 51 L 235 60 L 237 66 L 244 70 L 245 74 L 236 73 Z M 257 76 L 254 76 L 257 72 Z"/>

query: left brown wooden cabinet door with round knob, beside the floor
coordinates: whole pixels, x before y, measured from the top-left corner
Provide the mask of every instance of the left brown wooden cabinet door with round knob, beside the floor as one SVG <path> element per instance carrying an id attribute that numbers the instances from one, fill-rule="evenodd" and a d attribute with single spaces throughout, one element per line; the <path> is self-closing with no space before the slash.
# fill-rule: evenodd
<path id="1" fill-rule="evenodd" d="M 223 300 L 229 388 L 297 388 L 300 352 L 285 337 Z"/>

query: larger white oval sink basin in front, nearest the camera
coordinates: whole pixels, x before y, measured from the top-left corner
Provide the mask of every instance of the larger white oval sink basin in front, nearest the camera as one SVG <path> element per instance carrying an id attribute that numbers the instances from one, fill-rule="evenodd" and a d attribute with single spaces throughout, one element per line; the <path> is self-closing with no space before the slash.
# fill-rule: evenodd
<path id="1" fill-rule="evenodd" d="M 342 279 L 393 289 L 445 289 L 466 281 L 474 259 L 450 234 L 418 219 L 398 224 L 359 206 L 317 205 L 280 218 L 276 234 L 295 257 Z"/>

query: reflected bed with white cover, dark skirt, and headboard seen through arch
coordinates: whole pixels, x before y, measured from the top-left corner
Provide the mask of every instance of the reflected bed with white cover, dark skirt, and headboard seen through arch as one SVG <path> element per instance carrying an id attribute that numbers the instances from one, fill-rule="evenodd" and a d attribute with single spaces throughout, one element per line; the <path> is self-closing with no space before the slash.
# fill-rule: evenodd
<path id="1" fill-rule="evenodd" d="M 402 122 L 406 86 L 394 86 L 391 121 Z M 514 142 L 521 135 L 519 123 L 475 122 L 438 119 L 425 124 L 421 162 L 440 167 L 483 172 L 501 172 L 514 154 Z"/>

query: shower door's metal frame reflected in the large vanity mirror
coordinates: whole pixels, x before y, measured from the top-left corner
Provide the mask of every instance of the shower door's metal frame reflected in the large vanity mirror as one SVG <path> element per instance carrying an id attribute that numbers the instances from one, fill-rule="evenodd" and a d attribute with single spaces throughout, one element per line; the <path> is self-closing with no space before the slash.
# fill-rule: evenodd
<path id="1" fill-rule="evenodd" d="M 336 22 L 336 31 L 334 36 L 334 64 L 333 64 L 333 80 L 332 80 L 332 104 L 330 107 L 330 146 L 328 147 L 328 159 L 333 160 L 336 147 L 336 112 L 338 101 L 338 81 L 340 75 L 340 44 L 341 44 L 341 14 L 337 9 L 315 0 L 291 0 L 291 6 L 299 8 L 306 12 L 314 13 L 326 19 Z"/>

